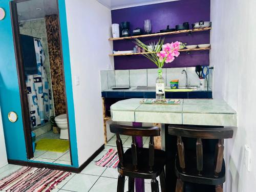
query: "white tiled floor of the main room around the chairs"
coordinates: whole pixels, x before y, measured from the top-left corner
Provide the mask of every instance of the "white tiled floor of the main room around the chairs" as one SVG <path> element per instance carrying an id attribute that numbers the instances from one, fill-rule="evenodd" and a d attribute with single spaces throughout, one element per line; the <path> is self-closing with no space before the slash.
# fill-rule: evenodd
<path id="1" fill-rule="evenodd" d="M 115 139 L 116 138 L 113 137 L 105 146 L 104 151 L 102 151 L 86 168 L 84 168 L 80 174 L 72 173 L 71 176 L 66 178 L 59 185 L 57 185 L 56 189 L 52 190 L 52 192 L 68 192 L 68 191 L 115 192 L 117 189 L 117 177 L 118 177 L 117 169 L 100 167 L 95 165 L 94 163 L 94 161 L 100 159 L 106 153 L 106 151 L 109 150 L 109 148 L 116 148 L 115 142 L 114 142 Z M 121 139 L 123 143 L 125 142 L 130 143 L 130 140 L 131 140 L 131 138 L 126 136 L 122 136 Z M 148 146 L 147 141 L 149 141 L 148 138 L 143 138 L 143 141 L 144 141 L 143 142 L 144 147 L 147 147 Z M 130 147 L 128 144 L 126 146 Z M 124 147 L 124 150 L 127 150 L 127 148 Z M 42 156 L 44 154 L 39 154 L 38 152 L 38 155 Z M 66 158 L 64 155 L 58 158 L 59 161 L 61 161 L 61 159 Z M 38 158 L 40 158 L 40 156 L 38 156 Z M 42 156 L 42 157 L 45 157 L 45 156 Z M 21 166 L 18 166 L 18 165 L 6 165 L 0 168 L 0 179 L 15 172 L 20 167 Z M 145 180 L 145 192 L 151 191 L 150 183 L 151 183 L 151 180 Z M 124 191 L 127 191 L 127 190 L 128 190 L 128 181 L 126 178 Z M 159 186 L 159 190 L 161 191 L 160 186 Z"/>

